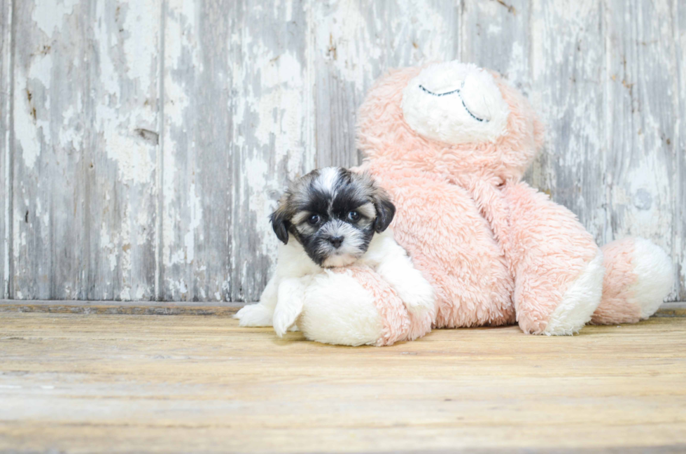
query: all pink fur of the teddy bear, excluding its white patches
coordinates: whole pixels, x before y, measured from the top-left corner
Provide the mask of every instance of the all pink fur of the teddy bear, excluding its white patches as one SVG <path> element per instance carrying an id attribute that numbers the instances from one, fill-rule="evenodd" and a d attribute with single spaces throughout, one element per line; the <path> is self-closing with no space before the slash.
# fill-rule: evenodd
<path id="1" fill-rule="evenodd" d="M 407 125 L 400 106 L 402 91 L 420 71 L 391 71 L 367 94 L 358 115 L 361 167 L 393 196 L 395 239 L 435 288 L 435 327 L 518 321 L 524 332 L 539 334 L 598 246 L 573 213 L 520 182 L 543 142 L 521 93 L 493 73 L 510 108 L 507 134 L 494 143 L 432 141 Z M 604 252 L 608 273 L 593 321 L 636 321 L 625 295 L 635 281 L 631 247 L 609 245 Z M 384 283 L 364 279 L 375 295 L 387 297 L 388 290 L 374 290 Z M 405 329 L 395 322 L 398 303 L 388 304 L 379 311 L 391 318 L 388 332 L 395 334 L 385 344 Z M 421 329 L 428 324 L 416 324 L 410 337 Z"/>

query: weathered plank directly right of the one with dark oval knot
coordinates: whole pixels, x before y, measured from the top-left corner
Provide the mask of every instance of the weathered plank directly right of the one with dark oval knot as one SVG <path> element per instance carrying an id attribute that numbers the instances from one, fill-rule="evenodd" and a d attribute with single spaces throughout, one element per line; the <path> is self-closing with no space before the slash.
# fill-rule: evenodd
<path id="1" fill-rule="evenodd" d="M 242 5 L 168 1 L 158 299 L 232 299 L 233 61 Z M 262 156 L 260 156 L 262 157 Z"/>

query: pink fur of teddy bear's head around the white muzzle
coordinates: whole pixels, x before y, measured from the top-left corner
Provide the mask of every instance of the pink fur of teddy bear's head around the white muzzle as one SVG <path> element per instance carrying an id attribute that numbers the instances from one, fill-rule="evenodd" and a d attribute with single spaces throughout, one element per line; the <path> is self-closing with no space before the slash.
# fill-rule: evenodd
<path id="1" fill-rule="evenodd" d="M 496 73 L 496 83 L 510 105 L 510 134 L 496 143 L 450 145 L 416 134 L 402 115 L 402 90 L 421 68 L 394 70 L 377 80 L 358 115 L 358 147 L 366 159 L 386 169 L 418 169 L 451 178 L 477 174 L 501 181 L 519 180 L 531 163 L 543 132 L 531 105 Z M 378 166 L 377 166 L 378 168 Z"/>

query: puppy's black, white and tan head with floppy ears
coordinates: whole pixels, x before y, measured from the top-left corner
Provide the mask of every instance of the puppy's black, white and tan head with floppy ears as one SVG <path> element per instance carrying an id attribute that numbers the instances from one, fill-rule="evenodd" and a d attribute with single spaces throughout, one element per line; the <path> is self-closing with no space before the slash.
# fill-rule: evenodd
<path id="1" fill-rule="evenodd" d="M 321 267 L 344 267 L 386 230 L 395 206 L 368 173 L 325 167 L 295 180 L 272 213 L 272 228 L 284 244 L 302 244 Z"/>

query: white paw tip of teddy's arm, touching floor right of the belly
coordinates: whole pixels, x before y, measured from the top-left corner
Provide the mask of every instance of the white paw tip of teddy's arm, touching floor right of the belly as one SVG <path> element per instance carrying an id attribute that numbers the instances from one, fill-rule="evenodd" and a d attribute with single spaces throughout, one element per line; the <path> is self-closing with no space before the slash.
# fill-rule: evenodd
<path id="1" fill-rule="evenodd" d="M 598 250 L 596 257 L 567 289 L 541 334 L 570 336 L 579 332 L 601 302 L 604 274 L 603 253 Z"/>

